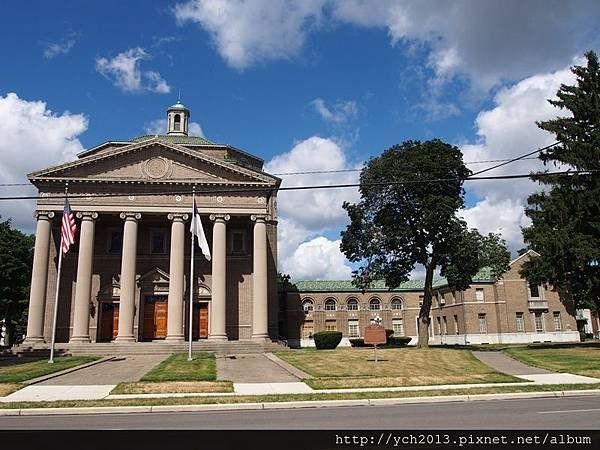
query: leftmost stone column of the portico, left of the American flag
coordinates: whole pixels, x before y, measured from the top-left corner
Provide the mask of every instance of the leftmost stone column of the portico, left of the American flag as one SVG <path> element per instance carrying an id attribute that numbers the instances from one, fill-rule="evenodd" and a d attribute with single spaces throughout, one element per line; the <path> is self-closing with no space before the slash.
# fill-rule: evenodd
<path id="1" fill-rule="evenodd" d="M 48 263 L 50 256 L 50 235 L 52 231 L 52 211 L 37 211 L 29 314 L 27 316 L 26 344 L 44 342 L 44 314 L 46 311 L 46 289 L 48 288 Z"/>

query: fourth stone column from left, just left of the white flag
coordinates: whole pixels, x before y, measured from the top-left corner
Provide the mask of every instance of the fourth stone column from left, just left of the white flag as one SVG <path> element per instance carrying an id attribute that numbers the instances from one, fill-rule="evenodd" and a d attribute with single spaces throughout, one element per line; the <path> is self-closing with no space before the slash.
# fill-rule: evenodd
<path id="1" fill-rule="evenodd" d="M 168 341 L 183 341 L 183 255 L 187 214 L 169 214 L 171 254 L 169 259 L 169 302 L 167 311 Z"/>

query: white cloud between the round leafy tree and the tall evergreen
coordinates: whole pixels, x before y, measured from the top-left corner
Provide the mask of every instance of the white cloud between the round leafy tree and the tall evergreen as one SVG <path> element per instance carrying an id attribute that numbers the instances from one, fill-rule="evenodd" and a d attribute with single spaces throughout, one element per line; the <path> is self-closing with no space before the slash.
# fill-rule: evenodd
<path id="1" fill-rule="evenodd" d="M 479 113 L 475 121 L 479 142 L 461 146 L 464 160 L 510 159 L 553 143 L 555 136 L 538 128 L 535 122 L 567 114 L 547 99 L 556 97 L 561 83 L 573 82 L 573 74 L 564 68 L 531 76 L 498 92 L 495 106 Z M 478 171 L 492 165 L 495 163 L 470 168 Z M 486 175 L 528 174 L 541 168 L 538 159 L 521 160 Z M 466 187 L 481 199 L 463 212 L 468 224 L 484 233 L 500 232 L 512 251 L 521 248 L 520 227 L 528 223 L 523 208 L 527 197 L 540 187 L 529 179 L 472 181 Z"/>

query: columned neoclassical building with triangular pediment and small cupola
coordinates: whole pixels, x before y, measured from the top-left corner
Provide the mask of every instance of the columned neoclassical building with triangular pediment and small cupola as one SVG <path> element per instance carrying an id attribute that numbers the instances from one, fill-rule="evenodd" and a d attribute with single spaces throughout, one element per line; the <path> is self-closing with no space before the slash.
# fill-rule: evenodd
<path id="1" fill-rule="evenodd" d="M 78 230 L 63 260 L 57 342 L 183 341 L 190 326 L 194 339 L 278 337 L 281 180 L 260 158 L 189 136 L 189 117 L 178 101 L 166 134 L 108 141 L 28 175 L 39 197 L 25 344 L 50 342 L 67 186 Z M 190 274 L 193 189 L 212 258 L 197 249 Z"/>

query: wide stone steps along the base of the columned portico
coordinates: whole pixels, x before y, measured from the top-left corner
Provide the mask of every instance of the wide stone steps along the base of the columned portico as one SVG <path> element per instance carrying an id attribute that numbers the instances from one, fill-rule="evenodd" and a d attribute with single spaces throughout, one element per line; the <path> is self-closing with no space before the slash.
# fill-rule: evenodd
<path id="1" fill-rule="evenodd" d="M 278 342 L 255 341 L 196 341 L 192 343 L 194 352 L 212 352 L 217 355 L 252 354 L 274 351 L 285 351 L 287 347 Z M 49 344 L 19 344 L 12 348 L 13 353 L 39 355 L 50 351 Z M 124 355 L 170 355 L 173 353 L 187 353 L 187 342 L 93 342 L 93 343 L 57 343 L 57 354 L 69 355 L 98 355 L 98 356 L 124 356 Z"/>

